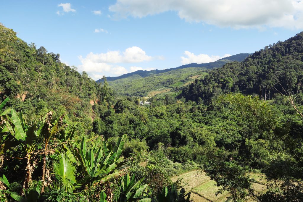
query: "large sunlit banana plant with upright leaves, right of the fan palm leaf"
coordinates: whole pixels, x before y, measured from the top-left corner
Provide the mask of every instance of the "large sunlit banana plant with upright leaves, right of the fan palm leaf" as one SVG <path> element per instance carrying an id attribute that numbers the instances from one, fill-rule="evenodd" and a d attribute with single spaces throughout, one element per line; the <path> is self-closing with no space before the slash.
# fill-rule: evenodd
<path id="1" fill-rule="evenodd" d="M 122 173 L 122 171 L 111 172 L 121 164 L 121 162 L 119 163 L 119 158 L 125 137 L 126 135 L 123 135 L 118 139 L 114 149 L 112 149 L 111 145 L 107 145 L 105 141 L 103 141 L 103 147 L 97 148 L 98 144 L 95 144 L 92 148 L 87 149 L 85 137 L 82 138 L 80 144 L 71 144 L 71 150 L 63 144 L 67 157 L 70 161 L 77 163 L 83 173 L 83 178 L 78 180 L 75 188 L 95 180 L 105 182 Z"/>

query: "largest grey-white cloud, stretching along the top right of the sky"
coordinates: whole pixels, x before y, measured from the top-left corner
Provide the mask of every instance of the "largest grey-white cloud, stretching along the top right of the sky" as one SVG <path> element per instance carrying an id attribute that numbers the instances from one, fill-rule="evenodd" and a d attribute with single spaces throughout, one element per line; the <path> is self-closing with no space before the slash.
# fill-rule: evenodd
<path id="1" fill-rule="evenodd" d="M 301 0 L 117 0 L 109 10 L 123 18 L 142 18 L 172 10 L 186 21 L 220 27 L 303 28 Z"/>

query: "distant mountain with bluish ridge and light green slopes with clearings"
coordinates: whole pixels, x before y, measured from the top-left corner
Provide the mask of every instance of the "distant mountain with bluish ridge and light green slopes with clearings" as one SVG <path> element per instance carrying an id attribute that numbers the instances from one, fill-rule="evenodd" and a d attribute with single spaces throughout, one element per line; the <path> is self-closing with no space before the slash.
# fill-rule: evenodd
<path id="1" fill-rule="evenodd" d="M 118 77 L 107 77 L 109 86 L 117 95 L 127 96 L 152 96 L 172 89 L 178 89 L 202 78 L 209 69 L 222 67 L 227 62 L 242 61 L 250 54 L 240 53 L 226 58 L 221 58 L 209 63 L 191 63 L 176 68 L 164 70 L 143 71 L 138 70 Z M 99 79 L 97 82 L 102 82 Z"/>

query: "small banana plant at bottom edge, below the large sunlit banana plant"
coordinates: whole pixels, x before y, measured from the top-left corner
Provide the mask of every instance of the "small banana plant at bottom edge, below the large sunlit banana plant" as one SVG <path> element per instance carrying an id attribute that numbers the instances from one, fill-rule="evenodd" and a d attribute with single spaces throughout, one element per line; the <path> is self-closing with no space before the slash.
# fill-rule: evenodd
<path id="1" fill-rule="evenodd" d="M 151 202 L 151 188 L 148 184 L 141 185 L 142 180 L 135 181 L 135 175 L 130 179 L 129 173 L 121 177 L 119 202 L 139 201 Z"/>

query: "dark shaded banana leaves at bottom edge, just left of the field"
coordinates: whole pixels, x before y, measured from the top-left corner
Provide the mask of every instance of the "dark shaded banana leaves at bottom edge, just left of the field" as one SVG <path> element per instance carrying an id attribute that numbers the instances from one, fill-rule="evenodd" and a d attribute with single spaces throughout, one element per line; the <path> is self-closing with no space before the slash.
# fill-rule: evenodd
<path id="1" fill-rule="evenodd" d="M 185 194 L 185 189 L 181 188 L 180 193 L 175 184 L 172 184 L 171 189 L 164 186 L 161 193 L 158 193 L 157 198 L 153 202 L 190 202 L 191 193 Z"/>

